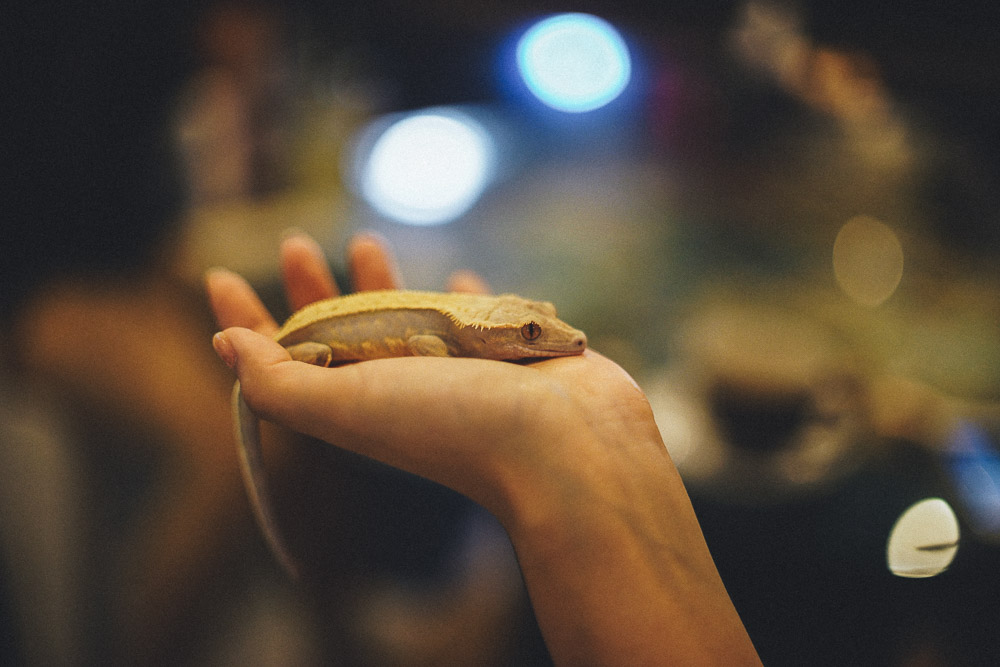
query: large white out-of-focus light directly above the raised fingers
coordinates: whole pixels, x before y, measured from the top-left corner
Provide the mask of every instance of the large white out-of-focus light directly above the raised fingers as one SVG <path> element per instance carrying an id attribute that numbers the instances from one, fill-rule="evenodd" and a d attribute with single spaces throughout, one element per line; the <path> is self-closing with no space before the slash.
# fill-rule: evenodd
<path id="1" fill-rule="evenodd" d="M 405 115 L 377 124 L 372 133 L 359 156 L 361 196 L 398 222 L 450 222 L 479 200 L 492 178 L 493 138 L 457 110 Z"/>

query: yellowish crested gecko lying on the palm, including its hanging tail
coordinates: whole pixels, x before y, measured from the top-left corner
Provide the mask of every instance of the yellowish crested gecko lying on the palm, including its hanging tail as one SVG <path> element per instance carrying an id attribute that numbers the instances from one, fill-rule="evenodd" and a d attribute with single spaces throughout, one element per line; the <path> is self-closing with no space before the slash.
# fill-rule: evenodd
<path id="1" fill-rule="evenodd" d="M 292 314 L 274 339 L 296 361 L 319 366 L 388 357 L 475 357 L 498 361 L 582 354 L 586 335 L 547 301 L 513 294 L 373 290 L 311 303 Z M 284 569 L 299 567 L 274 517 L 264 474 L 260 423 L 233 387 L 240 468 L 257 523 Z"/>

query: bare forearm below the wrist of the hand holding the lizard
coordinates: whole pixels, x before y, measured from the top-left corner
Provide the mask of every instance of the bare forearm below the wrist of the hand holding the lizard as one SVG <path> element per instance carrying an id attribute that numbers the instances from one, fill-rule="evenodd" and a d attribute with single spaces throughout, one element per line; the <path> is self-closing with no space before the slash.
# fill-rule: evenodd
<path id="1" fill-rule="evenodd" d="M 506 521 L 556 663 L 759 664 L 662 444 L 604 452 L 525 484 Z"/>

